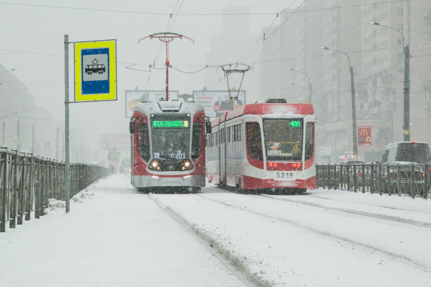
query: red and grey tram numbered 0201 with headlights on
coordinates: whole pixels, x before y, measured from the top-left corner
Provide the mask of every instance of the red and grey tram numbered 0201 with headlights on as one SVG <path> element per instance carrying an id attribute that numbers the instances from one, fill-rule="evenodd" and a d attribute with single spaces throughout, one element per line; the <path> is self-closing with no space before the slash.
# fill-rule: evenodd
<path id="1" fill-rule="evenodd" d="M 210 133 L 211 125 L 200 104 L 136 104 L 130 119 L 132 185 L 141 192 L 155 187 L 200 191 L 205 186 L 205 130 Z"/>

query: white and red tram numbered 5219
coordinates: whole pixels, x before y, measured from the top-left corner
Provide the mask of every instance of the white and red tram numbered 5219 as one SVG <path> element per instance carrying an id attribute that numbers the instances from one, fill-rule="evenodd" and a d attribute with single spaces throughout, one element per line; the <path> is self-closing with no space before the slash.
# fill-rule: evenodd
<path id="1" fill-rule="evenodd" d="M 316 117 L 311 104 L 257 103 L 213 120 L 208 182 L 242 189 L 316 189 Z"/>

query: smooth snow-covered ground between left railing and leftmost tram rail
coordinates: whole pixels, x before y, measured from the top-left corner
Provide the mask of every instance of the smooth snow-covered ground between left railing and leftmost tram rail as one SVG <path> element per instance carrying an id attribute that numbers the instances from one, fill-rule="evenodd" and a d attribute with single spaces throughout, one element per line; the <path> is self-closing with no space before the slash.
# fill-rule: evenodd
<path id="1" fill-rule="evenodd" d="M 0 233 L 0 286 L 243 286 L 126 175 Z"/>

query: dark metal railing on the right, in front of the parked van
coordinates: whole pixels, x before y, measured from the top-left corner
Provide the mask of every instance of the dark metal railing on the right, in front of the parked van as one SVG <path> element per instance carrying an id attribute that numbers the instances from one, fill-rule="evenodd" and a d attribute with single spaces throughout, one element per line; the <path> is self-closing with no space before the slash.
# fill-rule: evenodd
<path id="1" fill-rule="evenodd" d="M 431 171 L 425 164 L 318 164 L 317 187 L 427 198 Z"/>

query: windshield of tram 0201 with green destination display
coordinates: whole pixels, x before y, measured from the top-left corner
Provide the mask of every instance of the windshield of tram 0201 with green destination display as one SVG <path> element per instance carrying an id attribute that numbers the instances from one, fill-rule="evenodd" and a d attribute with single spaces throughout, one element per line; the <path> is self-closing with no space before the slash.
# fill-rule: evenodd
<path id="1" fill-rule="evenodd" d="M 151 121 L 153 158 L 183 159 L 189 156 L 190 120 L 188 118 Z"/>

